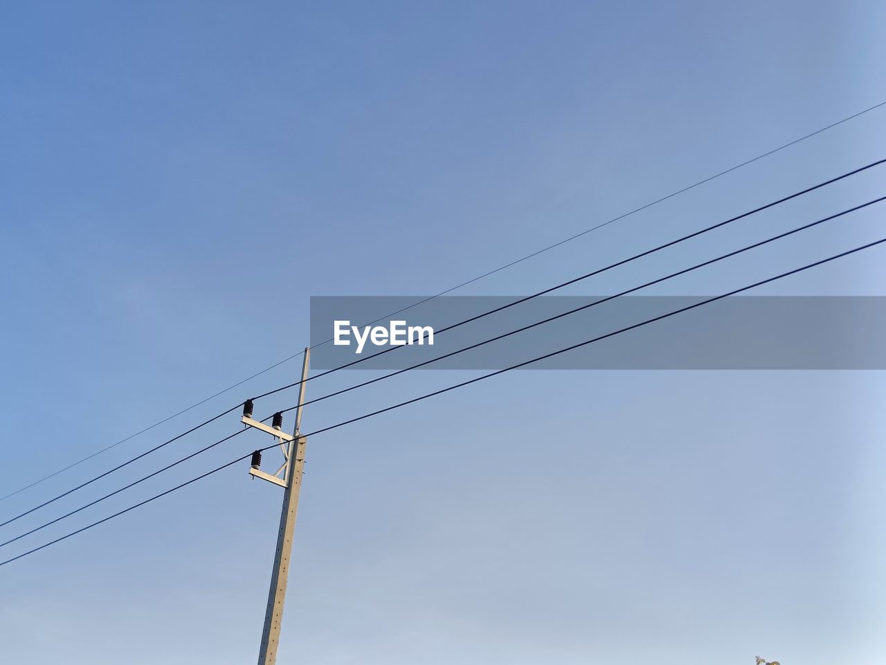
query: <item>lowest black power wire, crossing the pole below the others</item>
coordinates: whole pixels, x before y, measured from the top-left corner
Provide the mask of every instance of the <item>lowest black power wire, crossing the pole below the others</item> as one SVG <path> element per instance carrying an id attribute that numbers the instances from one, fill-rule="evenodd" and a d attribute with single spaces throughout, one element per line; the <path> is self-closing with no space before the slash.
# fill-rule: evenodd
<path id="1" fill-rule="evenodd" d="M 711 302 L 719 301 L 719 300 L 723 300 L 724 298 L 728 298 L 729 296 L 735 295 L 735 294 L 737 294 L 737 293 L 742 293 L 742 292 L 744 292 L 744 291 L 749 291 L 750 289 L 756 288 L 756 287 L 758 287 L 758 286 L 763 286 L 763 285 L 765 285 L 765 284 L 769 284 L 769 283 L 774 282 L 774 281 L 776 281 L 776 280 L 778 280 L 778 279 L 786 278 L 786 277 L 789 277 L 789 276 L 791 276 L 791 275 L 796 275 L 797 273 L 803 272 L 804 270 L 810 270 L 811 268 L 815 268 L 815 267 L 820 266 L 820 265 L 823 265 L 823 264 L 825 264 L 825 263 L 835 261 L 836 259 L 843 258 L 844 256 L 848 256 L 848 255 L 850 255 L 850 254 L 855 254 L 856 252 L 860 252 L 860 251 L 862 251 L 862 250 L 864 250 L 864 249 L 868 249 L 868 248 L 873 247 L 873 246 L 881 245 L 881 244 L 884 243 L 884 242 L 886 242 L 886 238 L 882 238 L 882 239 L 879 239 L 879 240 L 874 240 L 874 242 L 870 242 L 870 243 L 867 243 L 866 245 L 861 245 L 861 246 L 854 247 L 853 249 L 847 250 L 847 251 L 845 251 L 845 252 L 841 252 L 840 254 L 834 254 L 834 255 L 832 255 L 832 256 L 829 256 L 829 257 L 826 258 L 826 259 L 821 259 L 820 261 L 816 261 L 816 262 L 812 262 L 812 263 L 807 263 L 806 265 L 801 266 L 800 268 L 795 268 L 794 270 L 789 270 L 789 271 L 787 271 L 787 272 L 782 272 L 780 275 L 776 275 L 776 276 L 771 277 L 771 278 L 762 279 L 762 280 L 760 280 L 760 281 L 758 281 L 758 282 L 755 282 L 755 283 L 753 283 L 753 284 L 750 284 L 750 285 L 748 285 L 748 286 L 742 286 L 741 288 L 737 288 L 737 289 L 734 289 L 733 291 L 729 291 L 729 292 L 727 292 L 727 293 L 722 293 L 722 294 L 720 294 L 720 295 L 713 296 L 713 297 L 708 298 L 708 299 L 706 299 L 706 300 L 699 301 L 699 302 L 696 302 L 696 303 L 694 303 L 694 304 L 688 305 L 687 307 L 682 307 L 682 308 L 680 308 L 680 309 L 674 309 L 674 310 L 672 310 L 671 312 L 667 312 L 666 314 L 662 314 L 662 315 L 659 315 L 659 316 L 657 316 L 657 317 L 649 318 L 649 319 L 647 319 L 647 320 L 645 320 L 645 321 L 641 321 L 641 322 L 638 323 L 638 324 L 628 325 L 628 326 L 626 326 L 626 327 L 624 327 L 624 328 L 621 328 L 621 329 L 619 329 L 619 330 L 617 330 L 617 331 L 614 331 L 614 332 L 608 332 L 608 333 L 606 333 L 606 334 L 603 334 L 603 335 L 600 335 L 600 336 L 598 336 L 598 337 L 595 337 L 595 338 L 593 338 L 593 339 L 591 339 L 591 340 L 585 340 L 585 341 L 583 341 L 583 342 L 579 342 L 578 344 L 573 344 L 573 345 L 570 346 L 570 347 L 561 348 L 561 349 L 558 349 L 558 350 L 553 351 L 553 352 L 551 352 L 551 353 L 545 354 L 545 355 L 543 355 L 543 356 L 537 356 L 537 357 L 534 357 L 534 358 L 532 358 L 531 360 L 527 360 L 527 361 L 525 361 L 525 362 L 523 362 L 523 363 L 518 363 L 518 364 L 510 365 L 509 367 L 505 367 L 504 369 L 496 370 L 495 372 L 490 372 L 490 373 L 488 373 L 488 374 L 484 374 L 484 375 L 482 375 L 482 376 L 475 377 L 474 379 L 469 379 L 469 380 L 467 380 L 467 381 L 462 381 L 461 383 L 457 383 L 457 384 L 455 384 L 454 386 L 445 387 L 445 388 L 442 388 L 442 389 L 440 389 L 440 390 L 435 390 L 435 391 L 432 392 L 432 393 L 427 393 L 427 394 L 425 394 L 425 395 L 421 395 L 421 396 L 419 396 L 419 397 L 415 397 L 415 398 L 413 398 L 413 399 L 411 399 L 411 400 L 407 400 L 407 401 L 405 401 L 405 402 L 400 402 L 400 403 L 397 403 L 397 404 L 393 404 L 392 406 L 388 406 L 388 407 L 386 407 L 385 409 L 379 409 L 379 410 L 377 410 L 377 411 L 371 411 L 370 413 L 363 414 L 362 416 L 358 416 L 357 418 L 348 419 L 348 420 L 345 420 L 345 421 L 339 422 L 339 423 L 337 423 L 337 424 L 335 424 L 335 425 L 331 425 L 331 426 L 323 427 L 322 429 L 315 430 L 314 432 L 311 432 L 311 433 L 309 433 L 309 434 L 303 434 L 303 436 L 314 436 L 315 434 L 322 434 L 323 432 L 329 432 L 330 430 L 337 429 L 338 427 L 341 427 L 341 426 L 350 425 L 350 424 L 352 424 L 352 423 L 354 423 L 354 422 L 357 422 L 357 421 L 359 421 L 359 420 L 372 418 L 372 417 L 377 416 L 377 415 L 379 415 L 379 414 L 381 414 L 381 413 L 385 413 L 386 411 L 393 411 L 394 409 L 399 409 L 399 408 L 402 407 L 402 406 L 407 406 L 408 404 L 412 404 L 412 403 L 416 403 L 416 402 L 421 402 L 421 401 L 423 401 L 423 400 L 425 400 L 425 399 L 428 399 L 428 398 L 430 398 L 430 397 L 434 397 L 434 396 L 436 396 L 436 395 L 442 395 L 443 393 L 447 393 L 447 392 L 449 392 L 449 391 L 451 391 L 451 390 L 455 390 L 455 389 L 460 388 L 460 387 L 469 386 L 470 384 L 472 384 L 472 383 L 477 383 L 478 381 L 482 381 L 483 379 L 490 379 L 490 378 L 492 378 L 492 377 L 494 377 L 494 376 L 497 376 L 497 375 L 499 375 L 499 374 L 502 374 L 502 373 L 504 373 L 504 372 L 510 372 L 510 371 L 512 371 L 512 370 L 519 369 L 520 367 L 525 367 L 525 366 L 528 365 L 528 364 L 537 363 L 537 362 L 539 362 L 540 360 L 545 360 L 545 359 L 550 358 L 550 357 L 553 357 L 553 356 L 559 356 L 560 354 L 567 353 L 567 352 L 572 351 L 572 350 L 574 350 L 574 349 L 576 349 L 576 348 L 585 347 L 585 346 L 587 346 L 588 344 L 593 344 L 593 343 L 595 343 L 595 342 L 597 342 L 597 341 L 600 341 L 600 340 L 605 340 L 605 339 L 607 339 L 607 338 L 610 338 L 610 337 L 613 337 L 613 336 L 615 336 L 615 335 L 621 334 L 622 332 L 628 332 L 628 331 L 634 330 L 634 329 L 636 329 L 636 328 L 640 328 L 640 327 L 643 326 L 643 325 L 649 325 L 649 324 L 655 323 L 655 322 L 657 322 L 657 321 L 661 321 L 661 320 L 663 320 L 663 319 L 665 319 L 665 318 L 669 318 L 669 317 L 676 316 L 676 315 L 681 314 L 681 313 L 683 313 L 683 312 L 686 312 L 686 311 L 688 311 L 688 310 L 690 310 L 690 309 L 696 309 L 696 308 L 698 308 L 698 307 L 702 307 L 703 305 L 707 305 L 707 304 L 709 304 L 709 303 L 711 303 Z M 262 449 L 260 449 L 260 450 L 262 450 L 262 451 L 264 451 L 264 450 L 270 450 L 270 449 L 272 449 L 272 448 L 276 448 L 277 445 L 278 445 L 278 444 L 275 443 L 275 444 L 273 444 L 273 445 L 267 446 L 267 447 L 262 448 Z M 251 456 L 251 454 L 252 454 L 252 453 L 249 453 L 249 454 L 246 454 L 246 455 L 244 455 L 244 456 L 242 456 L 242 457 L 240 457 L 240 458 L 233 459 L 233 460 L 231 460 L 230 462 L 228 462 L 228 463 L 225 464 L 225 465 L 217 466 L 216 468 L 214 468 L 214 469 L 211 470 L 211 471 L 207 471 L 206 473 L 202 473 L 201 475 L 198 475 L 196 478 L 192 478 L 190 481 L 185 481 L 185 482 L 183 482 L 183 483 L 180 484 L 180 485 L 176 485 L 176 486 L 175 486 L 174 488 L 172 488 L 172 489 L 167 489 L 166 491 L 161 492 L 160 494 L 155 495 L 155 496 L 153 496 L 153 497 L 147 498 L 147 499 L 145 499 L 144 501 L 141 501 L 141 502 L 137 503 L 136 505 L 131 505 L 131 506 L 129 506 L 128 508 L 126 508 L 126 509 L 124 509 L 124 510 L 122 510 L 122 511 L 120 511 L 120 512 L 115 512 L 115 513 L 113 513 L 113 515 L 109 515 L 108 517 L 105 517 L 105 518 L 102 519 L 102 520 L 98 520 L 98 521 L 96 521 L 96 522 L 93 522 L 93 523 L 91 523 L 91 524 L 89 524 L 89 525 L 87 525 L 87 526 L 85 526 L 85 527 L 83 527 L 83 528 L 79 528 L 79 529 L 77 529 L 76 531 L 73 531 L 73 532 L 71 532 L 71 533 L 69 533 L 69 534 L 66 534 L 65 536 L 58 537 L 58 538 L 56 538 L 55 540 L 50 541 L 49 543 L 46 543 L 46 544 L 40 545 L 39 547 L 35 547 L 34 549 L 29 550 L 29 551 L 27 551 L 27 552 L 23 552 L 23 553 L 19 554 L 18 556 L 12 557 L 12 559 L 6 559 L 6 560 L 0 562 L 0 566 L 5 566 L 5 565 L 8 564 L 8 563 L 12 563 L 12 561 L 15 561 L 15 560 L 21 559 L 21 558 L 23 558 L 23 557 L 26 557 L 27 555 L 29 555 L 29 554 L 33 554 L 34 552 L 39 552 L 40 550 L 43 550 L 44 548 L 49 547 L 49 546 L 52 545 L 52 544 L 59 543 L 59 542 L 65 540 L 66 538 L 69 538 L 69 537 L 71 537 L 71 536 L 76 536 L 77 534 L 80 534 L 80 533 L 82 533 L 83 531 L 86 531 L 86 530 L 89 529 L 89 528 L 97 527 L 99 524 L 102 524 L 102 523 L 104 523 L 104 522 L 106 522 L 106 521 L 108 521 L 108 520 L 112 520 L 112 519 L 115 518 L 115 517 L 119 517 L 120 515 L 125 514 L 125 513 L 129 512 L 129 511 L 135 510 L 136 508 L 138 508 L 138 507 L 140 507 L 140 506 L 142 506 L 142 505 L 148 504 L 148 503 L 152 502 L 154 499 L 158 499 L 159 497 L 165 497 L 167 494 L 170 494 L 171 492 L 174 492 L 176 489 L 182 489 L 183 487 L 186 487 L 186 486 L 190 485 L 190 484 L 193 483 L 193 482 L 196 482 L 196 481 L 202 480 L 203 478 L 206 478 L 206 476 L 211 475 L 212 473 L 217 473 L 217 472 L 221 471 L 222 469 L 226 469 L 226 468 L 228 468 L 229 466 L 235 465 L 235 464 L 237 464 L 237 462 L 240 462 L 240 461 L 242 461 L 242 460 L 244 460 L 244 459 L 246 459 L 246 458 L 249 458 L 249 457 Z"/>

